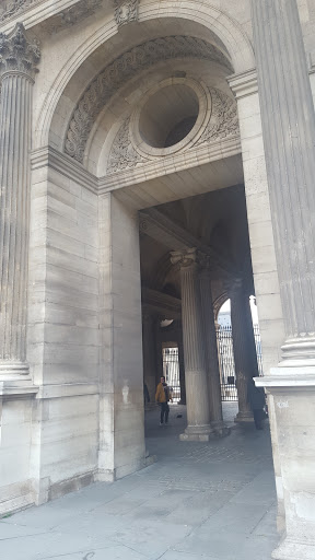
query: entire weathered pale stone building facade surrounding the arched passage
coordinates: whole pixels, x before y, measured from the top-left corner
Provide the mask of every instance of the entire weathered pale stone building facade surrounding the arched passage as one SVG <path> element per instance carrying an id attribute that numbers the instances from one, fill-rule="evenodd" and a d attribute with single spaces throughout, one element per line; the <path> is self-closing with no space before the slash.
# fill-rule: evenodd
<path id="1" fill-rule="evenodd" d="M 314 558 L 314 30 L 313 0 L 1 2 L 1 514 L 148 465 L 162 319 L 182 438 L 224 435 L 211 302 L 237 355 L 255 291 L 275 558 Z"/>

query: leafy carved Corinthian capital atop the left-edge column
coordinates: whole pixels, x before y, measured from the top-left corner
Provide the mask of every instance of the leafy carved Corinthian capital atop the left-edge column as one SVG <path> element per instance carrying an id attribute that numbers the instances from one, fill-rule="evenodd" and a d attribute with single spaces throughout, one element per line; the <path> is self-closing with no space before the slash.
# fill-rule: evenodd
<path id="1" fill-rule="evenodd" d="M 28 40 L 22 23 L 16 23 L 9 35 L 0 33 L 0 78 L 12 71 L 33 78 L 39 59 L 39 45 L 36 39 Z"/>

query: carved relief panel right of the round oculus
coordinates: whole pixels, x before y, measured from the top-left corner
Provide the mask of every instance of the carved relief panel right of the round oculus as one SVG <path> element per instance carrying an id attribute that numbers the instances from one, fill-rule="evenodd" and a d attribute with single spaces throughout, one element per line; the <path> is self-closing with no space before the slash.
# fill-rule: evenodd
<path id="1" fill-rule="evenodd" d="M 209 88 L 209 91 L 212 100 L 211 118 L 195 145 L 238 135 L 236 102 L 215 88 Z"/>

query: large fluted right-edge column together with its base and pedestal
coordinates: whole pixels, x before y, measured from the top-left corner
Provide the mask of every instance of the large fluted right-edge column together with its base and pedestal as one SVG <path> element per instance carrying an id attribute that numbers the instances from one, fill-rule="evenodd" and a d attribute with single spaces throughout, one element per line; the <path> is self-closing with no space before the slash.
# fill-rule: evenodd
<path id="1" fill-rule="evenodd" d="M 315 115 L 295 0 L 253 0 L 262 135 L 285 340 L 269 393 L 285 535 L 273 558 L 315 558 Z"/>

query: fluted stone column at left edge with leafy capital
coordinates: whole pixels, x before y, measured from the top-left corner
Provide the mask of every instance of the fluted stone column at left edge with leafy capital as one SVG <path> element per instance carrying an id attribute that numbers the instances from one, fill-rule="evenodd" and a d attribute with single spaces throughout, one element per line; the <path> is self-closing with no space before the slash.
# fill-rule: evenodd
<path id="1" fill-rule="evenodd" d="M 0 380 L 26 380 L 32 90 L 37 43 L 0 34 Z"/>

